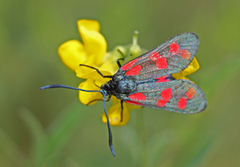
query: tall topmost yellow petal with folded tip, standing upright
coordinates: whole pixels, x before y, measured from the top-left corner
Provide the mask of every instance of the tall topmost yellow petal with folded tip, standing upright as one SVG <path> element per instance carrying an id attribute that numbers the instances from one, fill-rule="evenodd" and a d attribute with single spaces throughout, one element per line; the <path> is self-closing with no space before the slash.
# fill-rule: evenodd
<path id="1" fill-rule="evenodd" d="M 107 42 L 102 34 L 99 33 L 99 23 L 94 20 L 79 20 L 78 29 L 87 55 L 94 55 L 95 64 L 101 64 L 107 51 Z"/>

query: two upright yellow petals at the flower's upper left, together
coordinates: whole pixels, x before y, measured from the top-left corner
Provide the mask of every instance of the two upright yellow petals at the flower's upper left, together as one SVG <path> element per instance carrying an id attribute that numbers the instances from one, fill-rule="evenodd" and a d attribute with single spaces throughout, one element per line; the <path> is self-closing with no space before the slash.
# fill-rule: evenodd
<path id="1" fill-rule="evenodd" d="M 107 51 L 107 43 L 99 33 L 100 25 L 97 21 L 79 20 L 77 24 L 84 45 L 77 40 L 70 40 L 58 49 L 63 63 L 73 71 L 79 67 L 79 63 L 102 64 Z"/>

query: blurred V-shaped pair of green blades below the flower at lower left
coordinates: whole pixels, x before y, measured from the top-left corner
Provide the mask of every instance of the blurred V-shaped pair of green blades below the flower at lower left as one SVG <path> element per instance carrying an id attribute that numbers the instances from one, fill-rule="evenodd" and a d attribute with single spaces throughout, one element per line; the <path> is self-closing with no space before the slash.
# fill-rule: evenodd
<path id="1" fill-rule="evenodd" d="M 33 136 L 31 156 L 35 166 L 55 166 L 64 161 L 60 158 L 61 149 L 77 129 L 86 110 L 87 106 L 79 101 L 70 104 L 53 120 L 48 133 L 29 110 L 21 110 L 20 115 Z"/>

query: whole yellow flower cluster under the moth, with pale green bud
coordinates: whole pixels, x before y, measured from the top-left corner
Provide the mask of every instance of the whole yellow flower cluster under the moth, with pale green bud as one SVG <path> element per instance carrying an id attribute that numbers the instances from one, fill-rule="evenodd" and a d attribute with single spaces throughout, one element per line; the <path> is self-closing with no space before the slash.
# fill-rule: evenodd
<path id="1" fill-rule="evenodd" d="M 127 46 L 118 46 L 112 52 L 107 52 L 107 43 L 102 34 L 100 34 L 100 25 L 94 20 L 79 20 L 77 22 L 78 30 L 81 35 L 82 42 L 78 40 L 70 40 L 63 43 L 58 53 L 63 63 L 72 71 L 76 72 L 76 76 L 86 79 L 78 86 L 85 90 L 100 90 L 100 86 L 110 80 L 110 78 L 102 78 L 96 70 L 79 66 L 85 64 L 97 68 L 103 75 L 114 75 L 118 70 L 116 60 L 124 54 L 130 53 L 131 59 L 139 56 L 144 52 L 137 45 L 137 33 L 134 34 L 133 44 Z M 126 59 L 128 61 L 129 59 Z M 124 64 L 124 63 L 122 63 Z M 190 63 L 188 68 L 180 73 L 173 74 L 176 79 L 183 79 L 198 70 L 199 64 L 196 58 Z M 186 79 L 186 78 L 185 78 Z M 79 100 L 86 105 L 92 105 L 97 100 L 102 100 L 102 94 L 99 92 L 82 92 L 79 91 Z M 123 114 L 121 115 L 121 103 L 116 97 L 111 97 L 113 105 L 108 110 L 109 122 L 111 125 L 125 125 L 129 118 L 129 111 L 141 108 L 140 106 L 123 103 Z M 121 118 L 123 116 L 123 118 Z M 102 115 L 102 121 L 107 122 L 105 114 Z"/>

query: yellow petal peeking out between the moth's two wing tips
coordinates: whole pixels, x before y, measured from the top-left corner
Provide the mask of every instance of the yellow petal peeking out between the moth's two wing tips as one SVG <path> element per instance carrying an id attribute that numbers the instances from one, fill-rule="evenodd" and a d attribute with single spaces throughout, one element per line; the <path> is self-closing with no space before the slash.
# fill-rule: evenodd
<path id="1" fill-rule="evenodd" d="M 199 64 L 197 59 L 194 57 L 192 62 L 179 73 L 172 74 L 175 79 L 186 79 L 185 76 L 190 75 L 199 69 Z"/>

